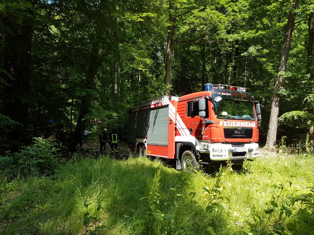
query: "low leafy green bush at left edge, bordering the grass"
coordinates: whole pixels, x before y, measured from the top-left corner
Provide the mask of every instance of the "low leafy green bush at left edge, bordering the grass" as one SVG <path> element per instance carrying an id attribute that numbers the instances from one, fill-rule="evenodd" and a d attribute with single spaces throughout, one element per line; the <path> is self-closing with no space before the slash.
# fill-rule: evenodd
<path id="1" fill-rule="evenodd" d="M 2 170 L 14 169 L 20 175 L 29 173 L 51 175 L 58 166 L 57 149 L 48 139 L 34 138 L 33 145 L 22 147 L 19 153 L 0 157 Z"/>

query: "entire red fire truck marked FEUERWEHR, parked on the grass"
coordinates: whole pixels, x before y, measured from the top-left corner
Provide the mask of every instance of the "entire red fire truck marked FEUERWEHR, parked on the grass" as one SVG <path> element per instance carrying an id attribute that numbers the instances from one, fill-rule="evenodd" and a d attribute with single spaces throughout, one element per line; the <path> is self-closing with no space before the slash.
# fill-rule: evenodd
<path id="1" fill-rule="evenodd" d="M 246 88 L 205 84 L 205 91 L 162 96 L 129 110 L 128 143 L 135 153 L 176 160 L 176 169 L 241 168 L 257 158 L 260 104 Z"/>

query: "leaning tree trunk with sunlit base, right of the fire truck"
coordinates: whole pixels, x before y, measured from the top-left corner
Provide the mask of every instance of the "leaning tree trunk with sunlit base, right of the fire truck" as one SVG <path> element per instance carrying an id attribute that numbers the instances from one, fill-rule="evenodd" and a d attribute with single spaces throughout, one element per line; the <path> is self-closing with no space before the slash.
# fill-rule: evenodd
<path id="1" fill-rule="evenodd" d="M 279 114 L 279 102 L 280 102 L 280 94 L 278 93 L 280 88 L 282 87 L 284 76 L 283 72 L 286 70 L 287 60 L 290 50 L 292 32 L 295 24 L 295 10 L 298 6 L 299 0 L 294 0 L 291 6 L 291 11 L 288 16 L 288 23 L 286 26 L 286 31 L 284 34 L 284 45 L 282 48 L 279 68 L 277 73 L 276 85 L 273 93 L 273 102 L 270 112 L 270 120 L 268 126 L 266 147 L 270 149 L 275 148 L 276 144 L 276 136 L 277 136 L 277 127 L 278 127 L 278 114 Z"/>

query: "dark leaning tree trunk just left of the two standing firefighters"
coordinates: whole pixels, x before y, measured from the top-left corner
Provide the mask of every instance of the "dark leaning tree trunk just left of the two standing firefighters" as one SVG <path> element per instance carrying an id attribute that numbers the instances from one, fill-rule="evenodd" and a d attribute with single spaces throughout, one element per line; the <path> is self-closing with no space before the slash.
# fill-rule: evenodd
<path id="1" fill-rule="evenodd" d="M 86 128 L 86 124 L 88 122 L 88 120 L 84 118 L 88 114 L 89 107 L 91 105 L 91 102 L 93 101 L 93 95 L 91 94 L 91 91 L 95 89 L 95 76 L 100 66 L 99 48 L 100 48 L 100 39 L 98 39 L 97 36 L 95 36 L 95 41 L 89 55 L 88 69 L 85 73 L 86 78 L 85 78 L 84 88 L 87 92 L 84 96 L 82 96 L 82 99 L 81 99 L 81 106 L 80 106 L 80 111 L 78 114 L 78 121 L 75 127 L 74 136 L 73 136 L 72 150 L 74 150 L 78 144 L 82 143 L 84 129 Z"/>

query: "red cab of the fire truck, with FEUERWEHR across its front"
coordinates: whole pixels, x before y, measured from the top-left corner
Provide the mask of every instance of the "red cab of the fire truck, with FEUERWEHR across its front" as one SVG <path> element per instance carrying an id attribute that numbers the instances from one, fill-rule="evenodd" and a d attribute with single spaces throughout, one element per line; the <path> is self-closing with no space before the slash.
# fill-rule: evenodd
<path id="1" fill-rule="evenodd" d="M 178 151 L 178 165 L 196 167 L 196 161 L 220 165 L 230 160 L 239 168 L 244 159 L 258 157 L 259 103 L 246 88 L 221 84 L 205 84 L 205 88 L 178 100 L 178 114 L 191 134 L 184 137 L 177 132 L 176 143 L 182 148 Z M 190 149 L 189 142 L 195 147 Z M 193 155 L 187 152 L 183 156 L 187 149 Z"/>

